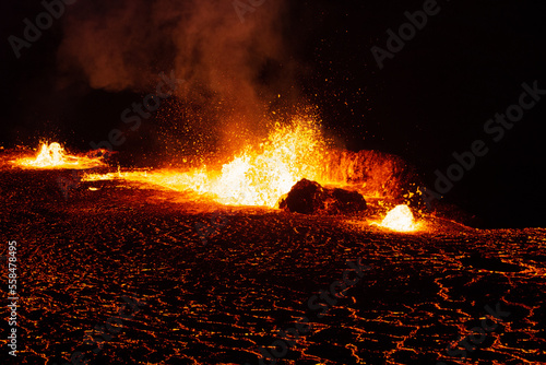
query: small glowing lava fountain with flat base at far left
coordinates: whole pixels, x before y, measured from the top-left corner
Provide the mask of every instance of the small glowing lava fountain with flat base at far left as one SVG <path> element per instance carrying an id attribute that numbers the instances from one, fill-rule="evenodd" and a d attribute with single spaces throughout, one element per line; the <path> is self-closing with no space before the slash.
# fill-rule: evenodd
<path id="1" fill-rule="evenodd" d="M 36 156 L 19 158 L 13 163 L 25 168 L 90 168 L 104 164 L 99 157 L 69 155 L 57 142 L 44 142 Z"/>

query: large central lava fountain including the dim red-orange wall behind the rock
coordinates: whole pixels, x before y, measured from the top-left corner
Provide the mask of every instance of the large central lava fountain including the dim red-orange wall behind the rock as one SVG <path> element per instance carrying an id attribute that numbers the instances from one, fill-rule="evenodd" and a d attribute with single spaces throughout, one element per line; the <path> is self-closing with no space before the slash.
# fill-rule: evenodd
<path id="1" fill-rule="evenodd" d="M 388 155 L 369 151 L 358 154 L 329 149 L 318 121 L 296 118 L 287 126 L 277 123 L 265 140 L 247 145 L 219 168 L 88 174 L 84 180 L 123 179 L 193 191 L 227 205 L 273 208 L 301 178 L 323 186 L 349 186 L 365 197 L 383 197 L 397 184 L 394 163 Z"/>

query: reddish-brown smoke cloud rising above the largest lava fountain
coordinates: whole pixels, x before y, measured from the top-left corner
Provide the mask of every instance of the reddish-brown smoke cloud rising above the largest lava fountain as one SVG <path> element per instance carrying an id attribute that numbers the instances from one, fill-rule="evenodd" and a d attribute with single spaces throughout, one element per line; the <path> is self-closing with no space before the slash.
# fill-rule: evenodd
<path id="1" fill-rule="evenodd" d="M 256 1 L 253 1 L 256 3 Z M 294 66 L 283 36 L 286 4 L 266 0 L 241 22 L 233 0 L 95 0 L 64 17 L 63 83 L 150 92 L 162 71 L 186 81 L 177 97 L 214 118 L 263 116 Z"/>

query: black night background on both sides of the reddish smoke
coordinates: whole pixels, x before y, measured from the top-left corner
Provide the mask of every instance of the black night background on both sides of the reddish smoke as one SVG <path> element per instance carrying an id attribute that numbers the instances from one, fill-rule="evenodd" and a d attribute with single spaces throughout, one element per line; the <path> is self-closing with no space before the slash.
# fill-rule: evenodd
<path id="1" fill-rule="evenodd" d="M 83 1 L 83 0 L 81 0 Z M 273 0 L 269 0 L 273 1 Z M 521 84 L 546 89 L 546 4 L 538 1 L 441 1 L 441 11 L 380 70 L 370 52 L 385 48 L 387 30 L 407 22 L 423 1 L 304 1 L 288 3 L 287 51 L 306 66 L 294 81 L 325 128 L 346 148 L 403 156 L 429 187 L 451 154 L 483 139 L 489 153 L 444 200 L 478 215 L 485 226 L 545 226 L 544 116 L 546 99 L 525 113 L 498 143 L 484 133 L 487 119 L 518 103 Z M 16 59 L 7 40 L 21 35 L 39 1 L 2 2 L 1 127 L 4 148 L 57 138 L 88 150 L 119 125 L 119 114 L 142 93 L 110 93 L 85 84 L 58 89 L 56 51 L 62 22 L 44 32 Z M 228 14 L 229 16 L 236 16 Z M 70 10 L 67 15 L 70 16 Z M 227 15 L 226 15 L 227 16 Z M 83 95 L 74 97 L 74 95 Z M 150 120 L 151 123 L 155 119 Z M 145 133 L 121 150 L 146 153 Z"/>

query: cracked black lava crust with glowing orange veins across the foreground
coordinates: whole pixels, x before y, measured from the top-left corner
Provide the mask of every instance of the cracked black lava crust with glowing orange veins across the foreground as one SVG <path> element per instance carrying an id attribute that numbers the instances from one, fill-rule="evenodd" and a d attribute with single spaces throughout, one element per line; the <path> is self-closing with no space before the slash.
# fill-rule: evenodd
<path id="1" fill-rule="evenodd" d="M 17 356 L 4 305 L 0 364 L 63 364 L 76 351 L 90 364 L 259 364 L 260 348 L 274 351 L 278 330 L 304 316 L 311 330 L 277 364 L 546 363 L 546 229 L 430 221 L 397 234 L 120 181 L 64 196 L 58 178 L 70 172 L 0 174 L 1 254 L 17 242 L 20 284 Z M 308 299 L 360 259 L 371 269 L 319 318 Z M 118 308 L 131 311 L 123 296 L 142 302 L 132 318 L 102 350 L 86 344 Z M 497 304 L 500 319 L 485 309 Z M 450 355 L 485 318 L 495 329 L 474 333 L 467 360 L 464 344 Z"/>

